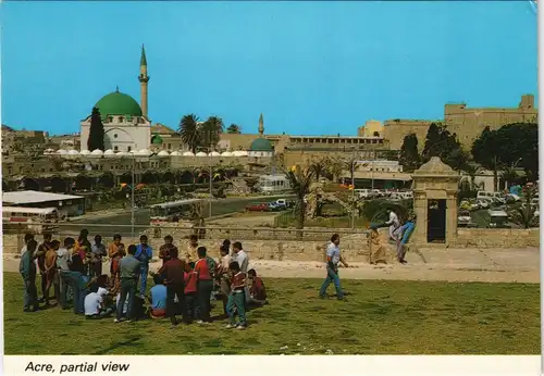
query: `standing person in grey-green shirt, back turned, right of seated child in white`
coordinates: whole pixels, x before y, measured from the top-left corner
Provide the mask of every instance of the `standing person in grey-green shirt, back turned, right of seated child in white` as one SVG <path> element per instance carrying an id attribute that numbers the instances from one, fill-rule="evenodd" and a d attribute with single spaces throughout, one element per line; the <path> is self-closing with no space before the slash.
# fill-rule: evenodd
<path id="1" fill-rule="evenodd" d="M 129 321 L 134 319 L 134 300 L 136 298 L 136 288 L 138 286 L 138 277 L 141 273 L 140 262 L 134 256 L 136 246 L 131 245 L 127 249 L 128 254 L 119 262 L 120 278 L 121 278 L 121 299 L 118 304 L 118 315 L 115 323 L 121 322 L 123 315 L 123 305 L 128 297 L 128 308 L 126 317 Z"/>

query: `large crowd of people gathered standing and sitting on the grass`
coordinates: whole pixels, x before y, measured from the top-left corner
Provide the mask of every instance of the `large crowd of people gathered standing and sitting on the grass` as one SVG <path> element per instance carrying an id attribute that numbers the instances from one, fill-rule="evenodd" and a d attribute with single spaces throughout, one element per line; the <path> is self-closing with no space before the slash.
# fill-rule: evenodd
<path id="1" fill-rule="evenodd" d="M 239 241 L 224 240 L 219 258 L 200 247 L 197 236 L 190 236 L 187 248 L 180 252 L 171 236 L 164 237 L 158 256 L 162 261 L 157 272 L 150 272 L 153 250 L 146 235 L 138 245 L 125 247 L 115 235 L 107 247 L 100 235 L 94 243 L 83 229 L 77 239 L 66 237 L 62 243 L 50 234 L 38 246 L 34 235 L 26 234 L 22 249 L 20 273 L 24 280 L 24 312 L 51 305 L 51 287 L 55 304 L 87 319 L 114 316 L 114 322 L 146 317 L 170 318 L 172 325 L 211 322 L 212 301 L 223 304 L 227 328 L 247 327 L 246 309 L 267 303 L 264 284 L 255 270 L 248 270 L 249 258 Z M 110 261 L 109 273 L 102 272 Z M 41 299 L 36 279 L 40 277 Z M 148 276 L 153 285 L 147 294 Z"/>

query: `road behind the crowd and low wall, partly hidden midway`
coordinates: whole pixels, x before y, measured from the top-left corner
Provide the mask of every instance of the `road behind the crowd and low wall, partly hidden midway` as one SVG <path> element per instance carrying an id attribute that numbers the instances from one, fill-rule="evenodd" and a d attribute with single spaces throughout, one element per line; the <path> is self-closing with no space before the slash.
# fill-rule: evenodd
<path id="1" fill-rule="evenodd" d="M 212 216 L 225 215 L 243 211 L 247 205 L 271 202 L 277 198 L 285 198 L 286 196 L 270 196 L 270 197 L 249 197 L 249 198 L 226 198 L 212 201 L 211 214 Z M 205 209 L 206 216 L 208 216 L 208 205 Z M 122 227 L 131 225 L 131 212 L 118 213 L 111 216 L 91 217 L 87 216 L 81 220 L 72 220 L 70 224 L 64 224 L 60 228 L 62 234 L 78 233 L 82 228 L 87 228 L 90 234 L 103 234 L 103 236 L 112 236 L 113 234 L 128 235 L 129 227 Z M 135 211 L 134 220 L 136 226 L 148 226 L 150 222 L 150 210 L 138 209 Z M 83 227 L 82 225 L 85 224 Z M 95 225 L 95 226 L 94 226 Z M 104 226 L 108 225 L 108 226 Z M 121 226 L 120 226 L 121 225 Z M 140 233 L 143 227 L 137 227 L 135 233 Z"/>

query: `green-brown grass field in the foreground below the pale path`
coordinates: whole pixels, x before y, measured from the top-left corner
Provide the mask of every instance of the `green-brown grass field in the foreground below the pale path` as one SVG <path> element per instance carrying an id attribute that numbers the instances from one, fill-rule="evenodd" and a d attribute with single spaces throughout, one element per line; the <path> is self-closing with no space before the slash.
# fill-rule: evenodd
<path id="1" fill-rule="evenodd" d="M 321 280 L 265 283 L 271 304 L 248 313 L 245 331 L 224 321 L 171 329 L 57 308 L 23 314 L 21 277 L 4 273 L 5 354 L 540 353 L 539 285 L 345 280 L 338 302 L 317 298 Z"/>

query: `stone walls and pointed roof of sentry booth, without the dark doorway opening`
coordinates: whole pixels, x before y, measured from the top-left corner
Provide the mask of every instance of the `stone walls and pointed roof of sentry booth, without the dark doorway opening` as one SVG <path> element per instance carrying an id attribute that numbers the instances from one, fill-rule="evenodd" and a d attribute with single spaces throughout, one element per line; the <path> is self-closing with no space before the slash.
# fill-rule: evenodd
<path id="1" fill-rule="evenodd" d="M 433 156 L 412 174 L 413 210 L 417 215 L 416 229 L 410 243 L 429 243 L 429 201 L 445 200 L 445 239 L 446 246 L 457 237 L 457 190 L 459 173 L 438 156 Z"/>

